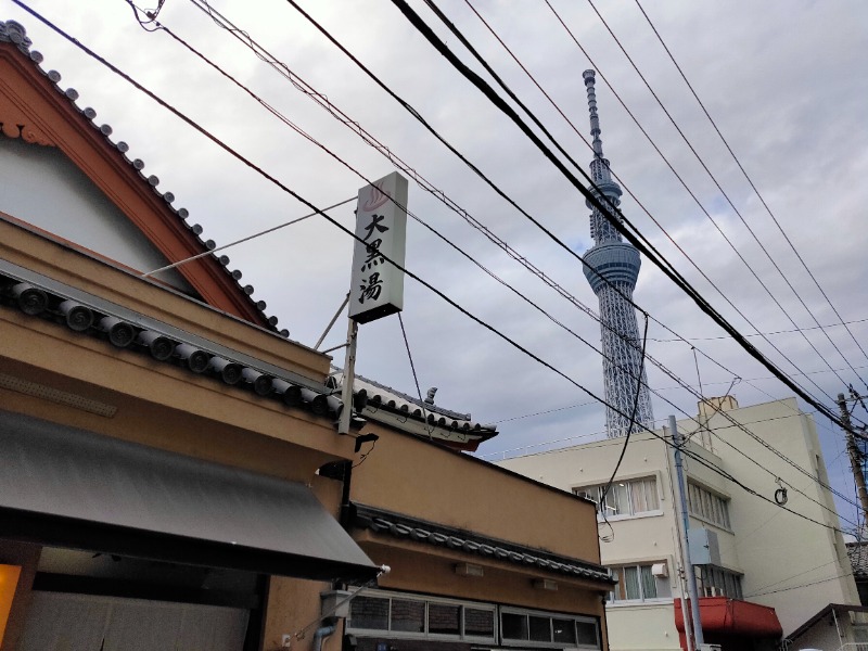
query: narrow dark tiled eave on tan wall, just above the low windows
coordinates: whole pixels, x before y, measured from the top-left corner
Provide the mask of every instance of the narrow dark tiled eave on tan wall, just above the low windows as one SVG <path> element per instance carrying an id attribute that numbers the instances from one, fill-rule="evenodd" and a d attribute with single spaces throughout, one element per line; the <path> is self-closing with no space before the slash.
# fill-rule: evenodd
<path id="1" fill-rule="evenodd" d="M 607 585 L 617 583 L 607 567 L 595 563 L 365 505 L 354 503 L 353 511 L 353 526 L 370 529 L 376 534 L 412 540 L 422 545 L 446 547 L 525 567 L 537 567 L 573 578 L 586 578 Z"/>

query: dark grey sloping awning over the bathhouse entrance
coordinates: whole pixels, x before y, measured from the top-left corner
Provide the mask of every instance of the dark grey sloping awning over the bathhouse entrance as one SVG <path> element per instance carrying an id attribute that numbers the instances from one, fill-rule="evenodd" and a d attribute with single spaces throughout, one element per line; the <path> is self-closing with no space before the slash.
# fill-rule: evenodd
<path id="1" fill-rule="evenodd" d="M 323 580 L 378 572 L 301 484 L 8 411 L 0 537 Z"/>

